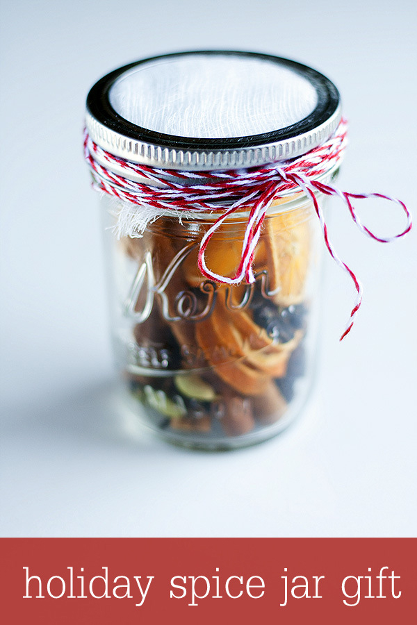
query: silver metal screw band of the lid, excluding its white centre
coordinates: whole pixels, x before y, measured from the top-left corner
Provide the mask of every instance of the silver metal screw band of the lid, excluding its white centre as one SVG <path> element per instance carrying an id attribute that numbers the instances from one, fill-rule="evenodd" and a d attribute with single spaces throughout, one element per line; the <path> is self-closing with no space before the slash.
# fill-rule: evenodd
<path id="1" fill-rule="evenodd" d="M 143 128 L 119 115 L 109 94 L 120 77 L 156 60 L 204 55 L 259 59 L 300 74 L 317 93 L 314 110 L 291 126 L 256 135 L 227 138 L 192 138 L 168 135 Z M 325 142 L 341 120 L 338 90 L 316 70 L 284 58 L 251 52 L 197 51 L 165 55 L 131 63 L 104 76 L 90 90 L 86 126 L 101 148 L 133 163 L 167 169 L 204 171 L 257 167 L 289 160 Z"/>

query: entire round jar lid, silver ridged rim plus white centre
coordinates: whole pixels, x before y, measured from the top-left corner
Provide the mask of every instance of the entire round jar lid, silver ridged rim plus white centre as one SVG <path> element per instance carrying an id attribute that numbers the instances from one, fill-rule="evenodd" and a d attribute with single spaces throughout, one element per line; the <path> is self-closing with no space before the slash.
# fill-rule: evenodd
<path id="1" fill-rule="evenodd" d="M 195 51 L 101 78 L 88 94 L 86 126 L 114 156 L 204 171 L 301 156 L 340 120 L 338 90 L 311 67 L 254 52 Z"/>

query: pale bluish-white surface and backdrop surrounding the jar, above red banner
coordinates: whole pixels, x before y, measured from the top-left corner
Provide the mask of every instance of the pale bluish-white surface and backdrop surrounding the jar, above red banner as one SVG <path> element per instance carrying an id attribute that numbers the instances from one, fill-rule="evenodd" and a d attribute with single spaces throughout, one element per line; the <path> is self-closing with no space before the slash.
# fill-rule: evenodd
<path id="1" fill-rule="evenodd" d="M 416 535 L 416 231 L 383 246 L 333 203 L 316 401 L 281 437 L 205 454 L 132 433 L 111 398 L 97 198 L 81 156 L 90 85 L 179 49 L 254 49 L 341 90 L 348 190 L 416 209 L 416 4 L 399 0 L 3 3 L 1 535 Z M 380 231 L 402 225 L 395 208 Z M 372 219 L 371 219 L 372 220 Z M 375 223 L 375 217 L 373 218 Z M 82 224 L 82 226 L 81 226 Z"/>

